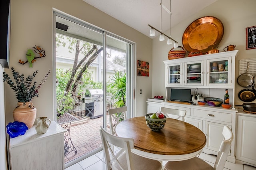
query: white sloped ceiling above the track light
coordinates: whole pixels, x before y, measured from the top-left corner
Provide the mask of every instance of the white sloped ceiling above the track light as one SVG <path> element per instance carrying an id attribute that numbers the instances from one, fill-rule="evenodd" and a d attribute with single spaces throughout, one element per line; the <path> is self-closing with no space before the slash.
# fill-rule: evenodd
<path id="1" fill-rule="evenodd" d="M 149 36 L 150 27 L 161 28 L 161 0 L 83 0 L 124 24 Z M 177 25 L 217 0 L 172 0 L 171 26 Z M 162 0 L 170 10 L 170 0 Z M 170 14 L 162 8 L 162 32 L 170 29 Z M 157 36 L 158 34 L 156 34 Z M 154 38 L 154 37 L 153 37 Z"/>

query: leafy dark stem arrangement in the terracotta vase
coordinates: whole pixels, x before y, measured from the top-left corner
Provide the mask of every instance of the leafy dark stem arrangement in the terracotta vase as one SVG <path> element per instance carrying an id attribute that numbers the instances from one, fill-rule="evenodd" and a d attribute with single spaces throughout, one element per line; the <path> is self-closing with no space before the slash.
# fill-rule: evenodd
<path id="1" fill-rule="evenodd" d="M 42 87 L 47 77 L 50 75 L 50 70 L 49 70 L 48 73 L 44 75 L 39 85 L 36 86 L 36 81 L 34 81 L 33 83 L 32 81 L 33 81 L 33 78 L 36 77 L 38 70 L 34 71 L 32 75 L 28 75 L 28 77 L 25 79 L 23 73 L 20 75 L 17 71 L 14 70 L 13 67 L 11 69 L 12 69 L 12 75 L 16 85 L 11 80 L 9 75 L 6 74 L 6 72 L 4 72 L 4 81 L 6 81 L 10 85 L 10 87 L 15 91 L 18 102 L 22 102 L 22 103 L 32 101 L 32 99 L 35 96 L 38 97 L 38 90 Z"/>

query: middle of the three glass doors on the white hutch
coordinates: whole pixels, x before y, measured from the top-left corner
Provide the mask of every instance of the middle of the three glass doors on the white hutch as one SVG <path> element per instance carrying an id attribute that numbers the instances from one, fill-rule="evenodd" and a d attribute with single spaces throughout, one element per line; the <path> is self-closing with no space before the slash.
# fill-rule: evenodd
<path id="1" fill-rule="evenodd" d="M 185 85 L 203 85 L 204 61 L 185 63 Z"/>

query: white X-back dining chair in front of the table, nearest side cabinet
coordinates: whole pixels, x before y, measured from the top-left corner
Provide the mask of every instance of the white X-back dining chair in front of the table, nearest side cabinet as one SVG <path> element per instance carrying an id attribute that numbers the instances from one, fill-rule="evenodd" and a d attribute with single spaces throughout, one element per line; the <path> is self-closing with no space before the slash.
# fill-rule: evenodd
<path id="1" fill-rule="evenodd" d="M 131 152 L 134 148 L 133 138 L 122 138 L 107 132 L 100 127 L 100 136 L 104 150 L 107 170 L 161 170 L 162 164 L 157 160 L 152 160 L 138 156 Z M 114 151 L 114 145 L 120 150 Z"/>

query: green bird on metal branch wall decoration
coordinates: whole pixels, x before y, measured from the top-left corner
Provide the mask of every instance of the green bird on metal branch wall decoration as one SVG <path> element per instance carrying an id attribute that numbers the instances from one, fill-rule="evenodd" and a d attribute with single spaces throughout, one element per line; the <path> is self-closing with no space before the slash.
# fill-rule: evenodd
<path id="1" fill-rule="evenodd" d="M 35 56 L 35 53 L 39 54 L 38 57 Z M 20 64 L 26 64 L 26 63 L 30 63 L 29 67 L 32 67 L 32 63 L 34 63 L 36 61 L 37 58 L 42 58 L 42 57 L 46 57 L 46 53 L 44 51 L 43 48 L 41 48 L 39 45 L 35 45 L 32 49 L 28 49 L 27 53 L 26 53 L 26 57 L 27 57 L 27 61 L 21 61 L 21 59 L 19 60 Z"/>

